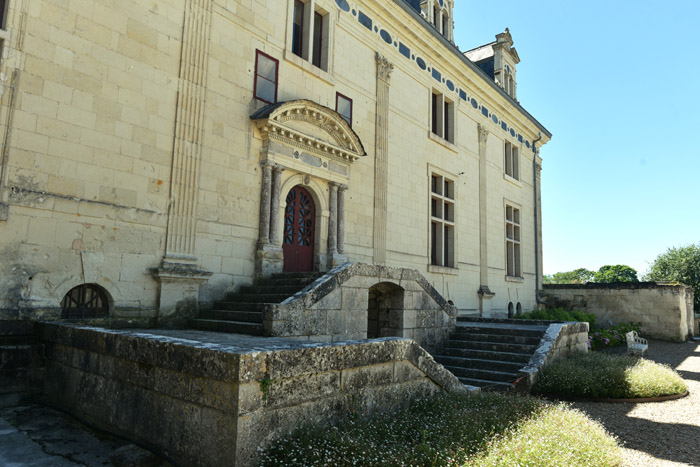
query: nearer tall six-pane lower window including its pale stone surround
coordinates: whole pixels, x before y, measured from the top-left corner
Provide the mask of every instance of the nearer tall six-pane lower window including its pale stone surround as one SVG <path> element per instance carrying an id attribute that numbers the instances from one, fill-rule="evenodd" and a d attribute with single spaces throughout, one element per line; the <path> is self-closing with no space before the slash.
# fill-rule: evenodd
<path id="1" fill-rule="evenodd" d="M 457 179 L 453 174 L 428 165 L 429 272 L 457 274 Z M 437 185 L 435 180 L 438 180 Z"/>

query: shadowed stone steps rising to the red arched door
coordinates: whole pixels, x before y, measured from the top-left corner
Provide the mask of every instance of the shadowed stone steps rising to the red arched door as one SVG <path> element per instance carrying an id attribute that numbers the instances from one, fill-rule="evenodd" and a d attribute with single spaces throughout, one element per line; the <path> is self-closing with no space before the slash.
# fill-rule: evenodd
<path id="1" fill-rule="evenodd" d="M 214 302 L 211 309 L 200 311 L 190 326 L 203 331 L 263 335 L 262 312 L 266 305 L 281 303 L 303 290 L 320 276 L 319 273 L 282 273 L 243 286 Z"/>

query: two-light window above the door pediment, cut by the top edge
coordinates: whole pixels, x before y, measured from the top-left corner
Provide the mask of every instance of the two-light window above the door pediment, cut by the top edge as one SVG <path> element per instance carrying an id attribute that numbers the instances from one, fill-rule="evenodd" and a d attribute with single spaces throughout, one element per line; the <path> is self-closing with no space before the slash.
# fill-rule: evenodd
<path id="1" fill-rule="evenodd" d="M 315 7 L 315 0 L 294 0 L 291 50 L 294 55 L 328 70 L 328 14 Z"/>

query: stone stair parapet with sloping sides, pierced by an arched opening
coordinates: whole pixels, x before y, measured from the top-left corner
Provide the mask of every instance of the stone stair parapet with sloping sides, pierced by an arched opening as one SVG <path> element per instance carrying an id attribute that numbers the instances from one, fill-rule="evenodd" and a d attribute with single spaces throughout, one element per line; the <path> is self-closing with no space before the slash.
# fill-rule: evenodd
<path id="1" fill-rule="evenodd" d="M 347 263 L 271 305 L 264 324 L 266 333 L 277 337 L 332 342 L 394 336 L 434 350 L 454 329 L 456 315 L 418 271 Z M 373 318 L 376 334 L 368 336 Z"/>

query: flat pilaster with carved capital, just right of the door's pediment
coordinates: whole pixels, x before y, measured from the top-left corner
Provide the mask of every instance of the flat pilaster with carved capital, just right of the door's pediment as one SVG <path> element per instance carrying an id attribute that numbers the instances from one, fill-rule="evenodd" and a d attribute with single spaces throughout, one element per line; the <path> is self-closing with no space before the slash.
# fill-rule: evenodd
<path id="1" fill-rule="evenodd" d="M 386 264 L 386 217 L 389 171 L 389 78 L 394 69 L 385 57 L 376 54 L 377 111 L 374 154 L 374 264 Z"/>

